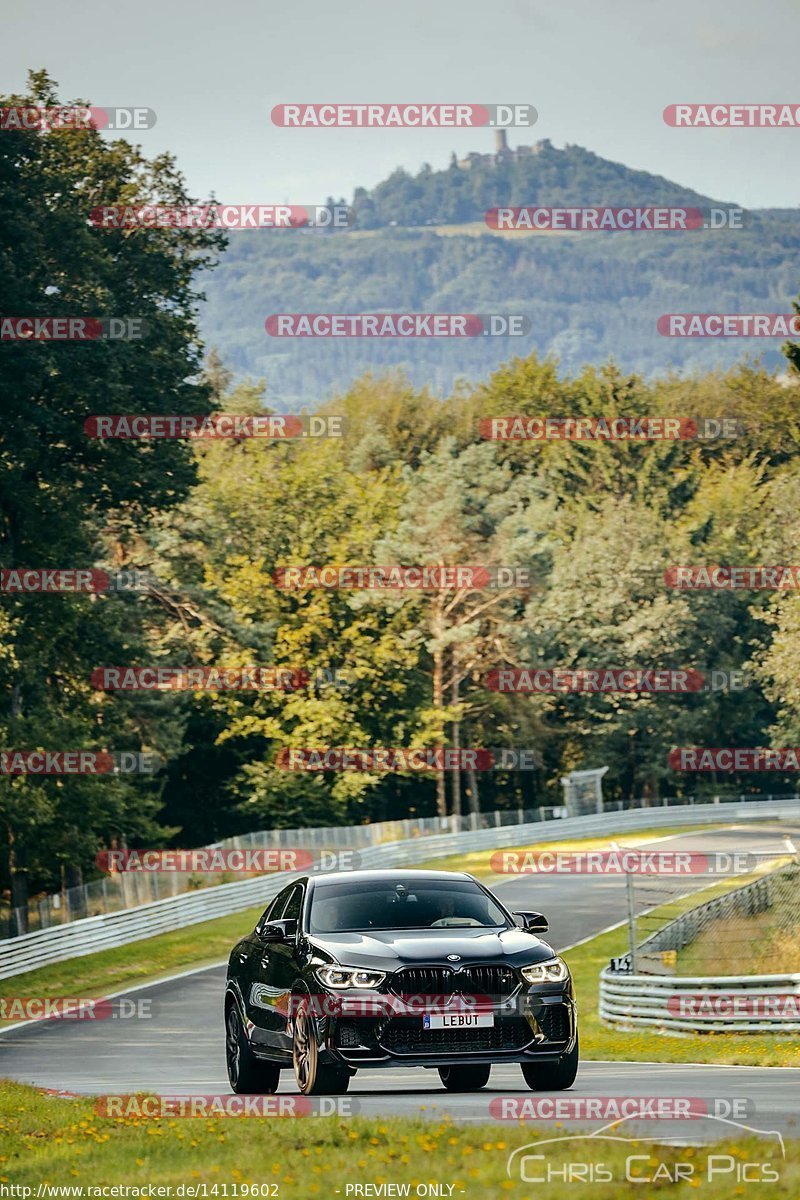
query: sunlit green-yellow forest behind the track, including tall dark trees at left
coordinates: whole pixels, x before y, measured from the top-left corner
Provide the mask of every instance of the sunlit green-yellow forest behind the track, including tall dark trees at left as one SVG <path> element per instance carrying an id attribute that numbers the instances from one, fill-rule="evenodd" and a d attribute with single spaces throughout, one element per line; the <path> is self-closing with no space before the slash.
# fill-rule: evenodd
<path id="1" fill-rule="evenodd" d="M 47 77 L 34 78 L 30 98 L 54 102 Z M 456 804 L 559 803 L 560 776 L 589 766 L 608 766 L 612 798 L 795 788 L 790 775 L 680 775 L 667 758 L 676 745 L 800 740 L 796 593 L 685 593 L 663 576 L 674 564 L 798 560 L 796 349 L 780 377 L 744 362 L 648 380 L 506 346 L 506 361 L 443 398 L 402 372 L 363 374 L 319 407 L 347 418 L 342 438 L 92 439 L 83 426 L 97 413 L 282 407 L 269 385 L 234 382 L 224 355 L 204 358 L 194 289 L 222 239 L 115 238 L 88 224 L 94 204 L 142 194 L 187 199 L 169 158 L 148 162 L 124 142 L 0 139 L 0 220 L 16 232 L 0 251 L 2 311 L 136 314 L 155 330 L 142 342 L 2 346 L 0 565 L 136 568 L 152 582 L 128 594 L 2 595 L 0 744 L 146 750 L 166 762 L 155 776 L 0 779 L 0 886 L 22 895 L 73 882 L 114 839 L 193 846 Z M 395 296 L 391 307 L 404 305 Z M 727 416 L 745 433 L 644 445 L 481 438 L 482 418 L 512 413 Z M 273 571 L 297 563 L 505 564 L 535 582 L 276 588 Z M 97 667 L 128 664 L 260 664 L 312 679 L 289 692 L 92 686 Z M 741 670 L 747 685 L 500 695 L 487 676 L 507 665 Z M 533 748 L 540 764 L 471 779 L 276 766 L 291 745 L 453 744 Z"/>

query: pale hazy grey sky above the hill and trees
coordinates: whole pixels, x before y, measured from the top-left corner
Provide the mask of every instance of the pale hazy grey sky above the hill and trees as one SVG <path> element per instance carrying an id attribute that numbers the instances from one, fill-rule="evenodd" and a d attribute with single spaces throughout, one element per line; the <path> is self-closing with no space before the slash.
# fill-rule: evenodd
<path id="1" fill-rule="evenodd" d="M 0 90 L 156 109 L 145 152 L 228 203 L 351 197 L 479 130 L 282 130 L 289 101 L 531 103 L 533 131 L 747 206 L 800 200 L 800 128 L 674 130 L 674 102 L 800 103 L 800 0 L 0 0 Z M 593 197 L 587 197 L 591 203 Z"/>

